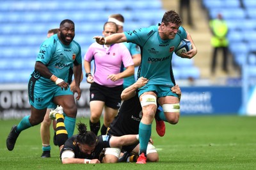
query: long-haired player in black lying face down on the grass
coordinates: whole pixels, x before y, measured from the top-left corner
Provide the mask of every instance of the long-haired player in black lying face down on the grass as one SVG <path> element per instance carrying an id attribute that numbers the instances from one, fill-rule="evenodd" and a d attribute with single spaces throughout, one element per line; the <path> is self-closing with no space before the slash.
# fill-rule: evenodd
<path id="1" fill-rule="evenodd" d="M 63 108 L 58 106 L 54 111 L 51 111 L 50 118 L 56 119 L 57 122 L 56 141 L 60 147 L 62 164 L 99 164 L 100 153 L 103 148 L 120 147 L 138 141 L 138 135 L 96 136 L 93 132 L 87 131 L 84 123 L 77 123 L 79 134 L 68 138 Z"/>

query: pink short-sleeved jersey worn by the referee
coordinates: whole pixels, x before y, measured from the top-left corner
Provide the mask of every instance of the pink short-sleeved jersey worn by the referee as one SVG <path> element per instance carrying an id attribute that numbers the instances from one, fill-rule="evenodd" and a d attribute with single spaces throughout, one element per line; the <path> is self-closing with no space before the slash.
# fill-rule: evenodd
<path id="1" fill-rule="evenodd" d="M 107 79 L 109 74 L 121 72 L 122 64 L 124 67 L 134 65 L 131 54 L 123 43 L 115 43 L 110 47 L 92 43 L 84 55 L 84 59 L 91 62 L 94 59 L 95 72 L 93 74 L 94 82 L 109 88 L 120 86 L 124 80 L 111 81 Z"/>

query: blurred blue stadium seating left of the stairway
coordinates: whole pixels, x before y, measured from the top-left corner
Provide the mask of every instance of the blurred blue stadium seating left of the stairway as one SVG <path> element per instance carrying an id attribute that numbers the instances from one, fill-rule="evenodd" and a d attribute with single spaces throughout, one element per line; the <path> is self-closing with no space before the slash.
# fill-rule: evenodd
<path id="1" fill-rule="evenodd" d="M 0 83 L 28 82 L 47 31 L 59 27 L 63 19 L 75 22 L 74 40 L 81 45 L 83 58 L 89 45 L 95 42 L 92 37 L 102 35 L 103 24 L 113 13 L 124 15 L 127 31 L 161 22 L 164 10 L 160 0 L 1 1 Z M 180 65 L 195 67 L 189 62 L 184 60 Z M 182 77 L 188 76 L 182 73 L 179 78 Z"/>

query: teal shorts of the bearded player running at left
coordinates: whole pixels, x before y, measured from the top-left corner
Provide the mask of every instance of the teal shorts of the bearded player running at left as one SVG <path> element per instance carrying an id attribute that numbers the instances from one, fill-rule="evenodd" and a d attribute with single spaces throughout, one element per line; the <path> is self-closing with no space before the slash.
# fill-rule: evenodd
<path id="1" fill-rule="evenodd" d="M 28 83 L 29 103 L 36 109 L 45 109 L 50 106 L 54 97 L 63 95 L 73 95 L 68 87 L 67 90 L 61 89 L 56 84 L 47 84 L 37 81 L 34 77 Z"/>

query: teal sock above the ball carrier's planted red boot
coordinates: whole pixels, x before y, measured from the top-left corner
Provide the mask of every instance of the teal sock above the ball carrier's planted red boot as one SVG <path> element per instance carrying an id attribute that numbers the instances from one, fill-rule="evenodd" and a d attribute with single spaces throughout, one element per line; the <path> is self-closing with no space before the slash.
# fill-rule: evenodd
<path id="1" fill-rule="evenodd" d="M 140 122 L 140 126 L 139 126 L 140 154 L 141 153 L 144 153 L 145 155 L 147 154 L 147 146 L 151 136 L 151 128 L 152 128 L 152 124 L 145 125 Z"/>

